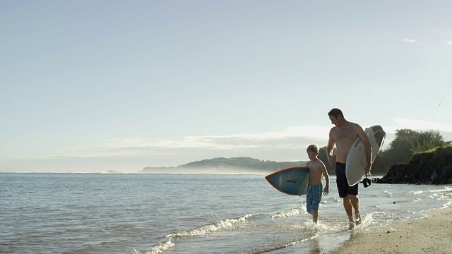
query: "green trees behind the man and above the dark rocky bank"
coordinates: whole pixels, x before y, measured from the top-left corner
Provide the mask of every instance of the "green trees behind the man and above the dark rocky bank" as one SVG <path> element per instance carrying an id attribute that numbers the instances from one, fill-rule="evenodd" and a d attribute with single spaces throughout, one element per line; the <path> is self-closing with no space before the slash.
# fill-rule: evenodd
<path id="1" fill-rule="evenodd" d="M 451 145 L 451 142 L 444 140 L 439 131 L 414 131 L 408 128 L 396 130 L 394 140 L 376 157 L 372 164 L 372 172 L 386 174 L 391 165 L 408 163 L 415 153 Z M 326 146 L 319 149 L 319 159 L 326 165 L 328 172 L 335 171 L 334 166 L 328 163 Z"/>

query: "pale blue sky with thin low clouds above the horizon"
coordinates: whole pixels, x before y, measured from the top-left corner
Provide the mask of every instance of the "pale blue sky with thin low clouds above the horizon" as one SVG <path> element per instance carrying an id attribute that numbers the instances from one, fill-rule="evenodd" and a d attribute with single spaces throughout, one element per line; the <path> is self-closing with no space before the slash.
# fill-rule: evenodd
<path id="1" fill-rule="evenodd" d="M 452 1 L 0 1 L 0 172 L 307 160 L 328 111 L 452 140 Z"/>

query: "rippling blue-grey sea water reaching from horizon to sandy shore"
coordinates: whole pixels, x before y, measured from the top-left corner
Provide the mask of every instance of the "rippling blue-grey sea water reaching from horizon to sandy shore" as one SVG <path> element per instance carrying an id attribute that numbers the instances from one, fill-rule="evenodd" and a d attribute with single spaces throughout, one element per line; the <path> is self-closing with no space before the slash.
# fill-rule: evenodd
<path id="1" fill-rule="evenodd" d="M 331 179 L 319 224 L 262 175 L 0 174 L 0 253 L 328 253 L 350 238 Z M 371 230 L 443 207 L 452 186 L 359 188 Z"/>

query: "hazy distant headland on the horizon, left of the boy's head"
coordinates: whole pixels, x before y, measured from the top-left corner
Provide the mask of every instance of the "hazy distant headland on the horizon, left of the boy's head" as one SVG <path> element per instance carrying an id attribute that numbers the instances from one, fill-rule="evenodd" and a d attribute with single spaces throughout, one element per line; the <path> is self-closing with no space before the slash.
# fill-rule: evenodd
<path id="1" fill-rule="evenodd" d="M 141 174 L 270 174 L 280 169 L 306 165 L 306 161 L 273 162 L 251 157 L 213 158 L 177 167 L 145 167 Z"/>

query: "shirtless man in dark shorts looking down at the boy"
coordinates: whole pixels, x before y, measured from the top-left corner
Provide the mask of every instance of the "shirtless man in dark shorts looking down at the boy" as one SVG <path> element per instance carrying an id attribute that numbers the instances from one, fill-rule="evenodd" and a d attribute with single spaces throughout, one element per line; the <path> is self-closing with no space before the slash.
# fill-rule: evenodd
<path id="1" fill-rule="evenodd" d="M 330 130 L 326 156 L 330 164 L 335 164 L 336 184 L 338 186 L 339 196 L 343 199 L 344 209 L 347 212 L 350 223 L 348 229 L 351 230 L 355 227 L 355 222 L 357 225 L 361 223 L 361 215 L 359 214 L 358 183 L 354 186 L 348 186 L 345 176 L 345 162 L 347 162 L 347 155 L 350 152 L 350 148 L 359 137 L 366 148 L 367 165 L 364 170 L 366 174 L 369 174 L 371 166 L 371 145 L 369 138 L 367 138 L 361 126 L 345 120 L 340 109 L 331 109 L 328 112 L 328 116 L 335 127 Z M 336 145 L 336 157 L 332 155 L 334 145 Z M 353 209 L 355 209 L 355 222 L 353 222 Z"/>

